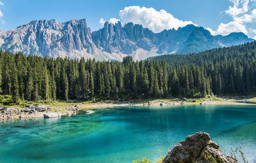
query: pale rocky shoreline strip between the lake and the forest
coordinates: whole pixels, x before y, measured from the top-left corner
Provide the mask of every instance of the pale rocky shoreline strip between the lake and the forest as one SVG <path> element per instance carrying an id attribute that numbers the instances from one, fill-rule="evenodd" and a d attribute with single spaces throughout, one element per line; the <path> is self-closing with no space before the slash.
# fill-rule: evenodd
<path id="1" fill-rule="evenodd" d="M 4 121 L 35 120 L 44 118 L 44 114 L 54 113 L 61 116 L 72 116 L 75 114 L 93 114 L 90 109 L 104 109 L 109 107 L 168 107 L 180 105 L 255 105 L 256 98 L 198 98 L 198 99 L 156 99 L 156 100 L 129 100 L 129 101 L 105 101 L 105 102 L 53 102 L 52 104 L 30 105 L 26 109 L 22 107 L 0 107 L 0 123 Z M 44 108 L 43 110 L 29 108 Z M 88 111 L 88 113 L 86 113 Z"/>

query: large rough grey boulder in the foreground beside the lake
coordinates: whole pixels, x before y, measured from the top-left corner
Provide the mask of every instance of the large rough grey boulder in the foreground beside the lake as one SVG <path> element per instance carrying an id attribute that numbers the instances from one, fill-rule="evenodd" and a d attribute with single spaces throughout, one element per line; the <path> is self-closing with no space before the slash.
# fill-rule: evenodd
<path id="1" fill-rule="evenodd" d="M 209 134 L 198 132 L 180 141 L 163 160 L 163 163 L 216 162 L 238 163 L 231 156 L 225 156 L 218 144 L 212 142 Z"/>

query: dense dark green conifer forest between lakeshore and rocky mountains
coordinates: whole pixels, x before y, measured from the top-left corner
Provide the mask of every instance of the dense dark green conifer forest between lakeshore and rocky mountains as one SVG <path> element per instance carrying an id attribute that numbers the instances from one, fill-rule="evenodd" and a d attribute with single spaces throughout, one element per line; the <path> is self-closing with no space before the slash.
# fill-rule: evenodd
<path id="1" fill-rule="evenodd" d="M 225 48 L 218 54 L 214 52 L 221 49 L 207 50 L 198 56 L 200 63 L 189 62 L 186 56 L 145 61 L 128 56 L 119 62 L 0 51 L 0 93 L 12 95 L 13 102 L 248 95 L 256 89 L 255 44 Z M 172 57 L 177 61 L 168 62 Z"/>

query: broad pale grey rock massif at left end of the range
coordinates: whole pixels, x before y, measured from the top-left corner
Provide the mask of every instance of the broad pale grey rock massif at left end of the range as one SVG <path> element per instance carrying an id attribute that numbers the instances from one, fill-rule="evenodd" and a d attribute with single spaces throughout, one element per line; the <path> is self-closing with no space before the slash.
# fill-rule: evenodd
<path id="1" fill-rule="evenodd" d="M 1 49 L 48 57 L 89 58 L 95 54 L 86 20 L 33 20 L 9 31 L 0 31 Z M 89 56 L 88 56 L 89 55 Z"/>

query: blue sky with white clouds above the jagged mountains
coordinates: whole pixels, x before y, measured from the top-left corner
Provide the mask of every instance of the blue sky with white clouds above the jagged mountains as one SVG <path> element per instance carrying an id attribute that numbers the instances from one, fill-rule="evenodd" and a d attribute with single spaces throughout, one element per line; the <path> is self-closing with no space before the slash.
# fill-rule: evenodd
<path id="1" fill-rule="evenodd" d="M 256 39 L 256 0 L 0 0 L 1 30 L 51 19 L 86 19 L 92 31 L 106 20 L 142 24 L 155 33 L 195 24 L 212 35 L 243 32 Z"/>

